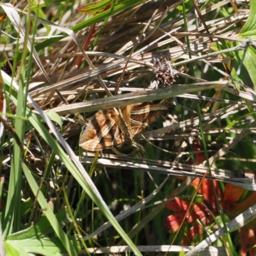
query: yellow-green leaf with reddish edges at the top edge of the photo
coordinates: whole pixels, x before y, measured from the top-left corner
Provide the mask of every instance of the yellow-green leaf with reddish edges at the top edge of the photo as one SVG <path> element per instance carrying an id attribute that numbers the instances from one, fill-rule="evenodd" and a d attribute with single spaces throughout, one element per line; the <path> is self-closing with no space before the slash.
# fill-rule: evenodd
<path id="1" fill-rule="evenodd" d="M 117 2 L 118 1 L 116 1 L 116 3 Z M 92 2 L 90 4 L 85 4 L 84 6 L 81 6 L 77 8 L 77 11 L 94 15 L 96 13 L 101 13 L 108 10 L 111 7 L 112 3 L 113 1 L 111 0 L 99 0 L 99 1 Z"/>

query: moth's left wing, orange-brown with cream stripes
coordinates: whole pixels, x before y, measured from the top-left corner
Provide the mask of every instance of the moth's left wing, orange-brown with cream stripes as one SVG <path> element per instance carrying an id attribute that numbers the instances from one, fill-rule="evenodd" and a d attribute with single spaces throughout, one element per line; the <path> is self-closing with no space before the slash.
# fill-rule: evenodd
<path id="1" fill-rule="evenodd" d="M 79 146 L 89 151 L 118 147 L 124 144 L 118 127 L 118 113 L 114 109 L 98 111 L 84 130 Z"/>

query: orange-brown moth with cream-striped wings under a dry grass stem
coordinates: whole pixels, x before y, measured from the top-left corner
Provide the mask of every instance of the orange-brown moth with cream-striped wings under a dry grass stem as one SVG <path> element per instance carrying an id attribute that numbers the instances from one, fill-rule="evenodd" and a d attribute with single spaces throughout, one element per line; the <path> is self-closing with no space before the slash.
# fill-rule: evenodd
<path id="1" fill-rule="evenodd" d="M 84 130 L 79 146 L 99 151 L 132 145 L 134 136 L 153 124 L 170 106 L 171 99 L 143 102 L 121 108 L 99 110 Z"/>

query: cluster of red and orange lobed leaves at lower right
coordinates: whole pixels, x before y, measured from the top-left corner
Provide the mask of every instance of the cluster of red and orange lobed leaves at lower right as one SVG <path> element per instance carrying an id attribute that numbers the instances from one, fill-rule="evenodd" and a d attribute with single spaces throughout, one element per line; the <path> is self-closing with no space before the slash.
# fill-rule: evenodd
<path id="1" fill-rule="evenodd" d="M 202 153 L 198 151 L 202 150 L 198 146 L 198 143 L 194 143 L 193 149 L 196 152 L 196 160 L 198 163 L 202 163 L 205 160 L 205 157 Z M 193 163 L 193 161 L 190 161 Z M 198 188 L 202 179 L 195 179 L 191 186 L 195 189 Z M 256 191 L 249 195 L 242 202 L 237 203 L 240 200 L 241 196 L 246 191 L 243 188 L 234 186 L 232 184 L 226 184 L 225 191 L 223 196 L 221 195 L 221 190 L 218 186 L 218 182 L 214 180 L 214 187 L 216 189 L 218 200 L 221 204 L 223 212 L 227 214 L 230 220 L 236 218 L 237 215 L 246 211 L 249 207 L 256 203 Z M 184 223 L 191 223 L 192 227 L 186 232 L 186 236 L 182 239 L 182 244 L 190 244 L 193 239 L 195 239 L 196 234 L 202 237 L 204 228 L 196 221 L 200 220 L 202 225 L 209 225 L 214 220 L 211 214 L 218 216 L 218 208 L 216 205 L 216 200 L 213 193 L 212 182 L 211 180 L 204 179 L 200 188 L 198 189 L 198 194 L 202 195 L 204 202 L 194 203 L 191 206 L 191 209 L 187 212 L 191 202 L 186 202 L 181 200 L 178 197 L 175 197 L 172 202 L 168 202 L 166 207 L 172 211 L 177 211 L 177 213 L 172 214 L 166 218 L 166 226 L 169 228 L 169 232 L 177 232 L 182 221 L 185 219 Z M 211 214 L 210 214 L 211 211 Z M 256 248 L 253 248 L 256 244 L 256 220 L 254 219 L 244 227 L 239 229 L 239 236 L 241 241 L 241 256 L 246 256 L 246 253 L 249 252 L 250 255 L 256 255 Z"/>

